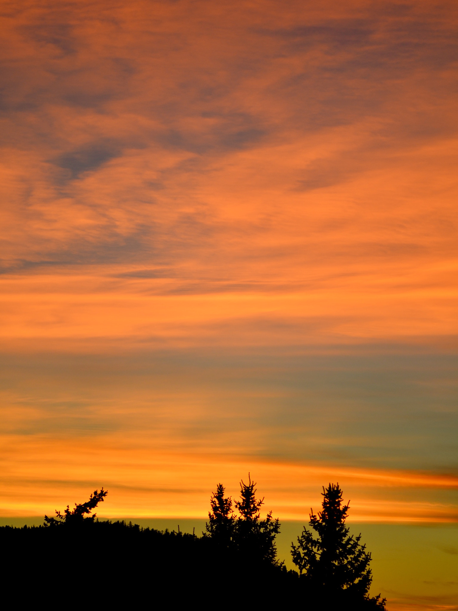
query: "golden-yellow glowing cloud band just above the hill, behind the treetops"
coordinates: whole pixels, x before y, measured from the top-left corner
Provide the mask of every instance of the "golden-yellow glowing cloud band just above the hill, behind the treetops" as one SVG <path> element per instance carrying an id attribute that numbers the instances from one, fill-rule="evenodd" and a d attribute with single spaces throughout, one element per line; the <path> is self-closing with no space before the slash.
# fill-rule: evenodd
<path id="1" fill-rule="evenodd" d="M 84 442 L 3 437 L 2 464 L 3 515 L 49 513 L 54 505 L 81 500 L 90 488 L 104 486 L 111 492 L 105 515 L 205 518 L 216 483 L 222 481 L 237 496 L 238 481 L 250 471 L 266 497 L 266 508 L 282 519 L 307 520 L 310 507 L 316 511 L 321 506 L 322 486 L 339 481 L 346 499 L 352 499 L 353 521 L 458 521 L 453 504 L 429 499 L 428 491 L 458 488 L 458 478 L 448 475 L 167 453 L 138 437 Z M 405 499 L 405 489 L 418 489 L 423 499 Z"/>

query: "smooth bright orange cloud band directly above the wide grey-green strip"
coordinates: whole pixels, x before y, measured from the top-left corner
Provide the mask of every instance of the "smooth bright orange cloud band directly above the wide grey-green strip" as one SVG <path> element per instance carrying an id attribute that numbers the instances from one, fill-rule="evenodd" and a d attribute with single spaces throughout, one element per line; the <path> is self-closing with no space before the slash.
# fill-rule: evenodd
<path id="1" fill-rule="evenodd" d="M 99 277 L 103 285 L 105 279 Z M 167 292 L 166 280 L 133 280 L 109 290 L 84 290 L 94 276 L 46 277 L 5 282 L 1 337 L 116 338 L 169 345 L 297 345 L 406 340 L 458 335 L 453 288 L 394 288 L 385 282 L 362 290 L 340 286 L 307 291 L 231 291 L 186 295 Z M 322 283 L 326 284 L 326 283 Z M 196 290 L 198 291 L 198 289 Z M 199 291 L 200 292 L 200 291 Z"/>

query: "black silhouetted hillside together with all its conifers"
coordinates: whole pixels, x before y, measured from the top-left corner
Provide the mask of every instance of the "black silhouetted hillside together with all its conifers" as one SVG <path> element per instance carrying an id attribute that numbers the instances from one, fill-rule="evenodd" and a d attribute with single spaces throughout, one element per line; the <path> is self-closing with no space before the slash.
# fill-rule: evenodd
<path id="1" fill-rule="evenodd" d="M 255 486 L 241 481 L 234 502 L 218 484 L 202 536 L 99 521 L 103 488 L 42 526 L 0 527 L 1 590 L 23 604 L 70 608 L 385 609 L 385 599 L 369 596 L 371 555 L 349 534 L 338 485 L 323 488 L 311 530 L 292 544 L 299 572 L 277 558 L 280 522 L 272 512 L 261 518 Z"/>

